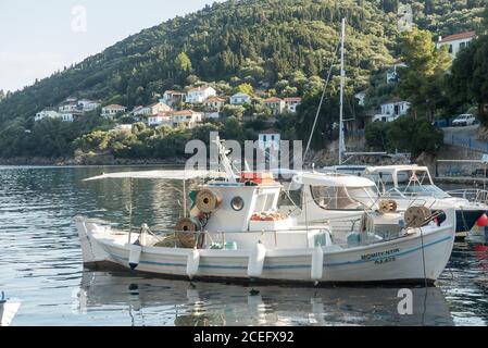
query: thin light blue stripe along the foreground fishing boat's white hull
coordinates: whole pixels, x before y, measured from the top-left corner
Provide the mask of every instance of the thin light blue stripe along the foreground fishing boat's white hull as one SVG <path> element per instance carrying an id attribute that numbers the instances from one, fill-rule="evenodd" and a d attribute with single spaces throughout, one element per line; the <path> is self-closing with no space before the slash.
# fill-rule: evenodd
<path id="1" fill-rule="evenodd" d="M 391 254 L 388 254 L 387 257 L 377 257 L 377 258 L 371 258 L 367 260 L 355 260 L 355 261 L 346 261 L 346 262 L 333 262 L 333 263 L 324 263 L 324 266 L 330 268 L 330 266 L 338 266 L 338 265 L 347 265 L 347 264 L 359 264 L 359 263 L 367 263 L 367 262 L 376 262 L 379 260 L 383 260 L 385 258 L 393 258 L 393 257 L 401 257 L 404 254 L 409 254 L 412 252 L 415 252 L 417 250 L 421 250 L 422 248 L 426 249 L 428 247 L 431 247 L 434 245 L 437 245 L 439 243 L 451 240 L 453 237 L 447 236 L 438 240 L 434 240 L 431 243 L 428 243 L 424 245 L 423 247 L 414 247 L 410 248 L 400 252 L 395 252 Z M 127 258 L 123 258 L 116 254 L 111 253 L 111 257 L 114 259 L 117 259 L 120 261 L 128 262 Z M 177 268 L 186 268 L 187 265 L 184 263 L 171 263 L 171 262 L 157 262 L 157 261 L 140 261 L 140 263 L 143 264 L 154 264 L 154 265 L 163 265 L 163 266 L 177 266 Z M 217 264 L 201 264 L 201 269 L 221 269 L 221 270 L 247 270 L 247 266 L 242 265 L 217 265 Z M 278 265 L 264 265 L 264 270 L 283 270 L 283 269 L 310 269 L 310 264 L 278 264 Z"/>

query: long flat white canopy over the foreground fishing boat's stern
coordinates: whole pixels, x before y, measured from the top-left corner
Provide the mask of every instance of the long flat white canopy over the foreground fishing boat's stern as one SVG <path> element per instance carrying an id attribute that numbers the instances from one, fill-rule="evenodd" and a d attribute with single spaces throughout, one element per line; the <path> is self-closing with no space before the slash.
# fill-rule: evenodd
<path id="1" fill-rule="evenodd" d="M 84 182 L 100 181 L 107 178 L 143 178 L 143 179 L 166 179 L 166 181 L 189 181 L 196 178 L 227 178 L 227 174 L 216 171 L 147 171 L 147 172 L 120 172 L 103 173 L 84 179 Z"/>

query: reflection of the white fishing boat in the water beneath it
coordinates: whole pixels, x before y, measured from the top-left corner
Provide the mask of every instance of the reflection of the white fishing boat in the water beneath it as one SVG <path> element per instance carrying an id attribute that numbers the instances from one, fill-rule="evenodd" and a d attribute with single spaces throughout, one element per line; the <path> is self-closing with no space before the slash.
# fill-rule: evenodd
<path id="1" fill-rule="evenodd" d="M 259 291 L 258 291 L 259 290 Z M 77 310 L 125 315 L 133 325 L 452 325 L 442 291 L 413 288 L 401 315 L 399 288 L 249 287 L 85 272 Z M 251 295 L 251 293 L 253 293 Z"/>

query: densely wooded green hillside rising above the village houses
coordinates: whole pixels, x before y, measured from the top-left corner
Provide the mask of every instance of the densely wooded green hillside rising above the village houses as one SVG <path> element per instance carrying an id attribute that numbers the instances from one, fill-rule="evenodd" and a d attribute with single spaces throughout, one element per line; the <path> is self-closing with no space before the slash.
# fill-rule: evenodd
<path id="1" fill-rule="evenodd" d="M 415 22 L 435 35 L 475 28 L 481 1 L 406 1 Z M 30 128 L 36 112 L 73 96 L 132 108 L 188 75 L 273 88 L 281 80 L 326 75 L 342 16 L 348 21 L 351 87 L 391 63 L 397 48 L 396 0 L 230 0 L 167 21 L 115 44 L 0 102 L 0 126 Z M 182 64 L 185 52 L 190 64 Z M 0 133 L 4 137 L 5 130 Z M 5 156 L 3 152 L 2 156 Z"/>

